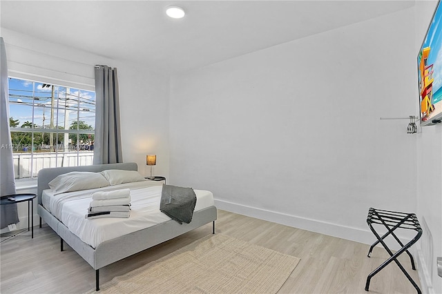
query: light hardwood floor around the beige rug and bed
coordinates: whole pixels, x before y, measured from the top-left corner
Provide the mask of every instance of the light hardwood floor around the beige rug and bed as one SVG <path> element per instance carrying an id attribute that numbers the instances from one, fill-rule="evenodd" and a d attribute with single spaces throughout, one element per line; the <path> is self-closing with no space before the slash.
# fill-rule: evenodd
<path id="1" fill-rule="evenodd" d="M 367 293 L 367 275 L 387 259 L 383 248 L 303 231 L 218 210 L 216 233 L 300 257 L 279 293 Z M 100 269 L 101 284 L 211 234 L 211 224 Z M 35 227 L 34 239 L 13 238 L 0 244 L 0 293 L 84 293 L 95 288 L 95 271 L 48 226 Z M 399 258 L 419 284 L 406 255 Z M 416 293 L 392 262 L 372 278 L 368 293 Z M 148 285 L 146 285 L 148 293 Z"/>

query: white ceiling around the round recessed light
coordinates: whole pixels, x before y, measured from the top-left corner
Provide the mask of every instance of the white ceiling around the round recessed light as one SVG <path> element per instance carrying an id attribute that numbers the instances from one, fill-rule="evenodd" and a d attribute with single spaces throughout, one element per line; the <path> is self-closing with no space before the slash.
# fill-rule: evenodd
<path id="1" fill-rule="evenodd" d="M 4 1 L 1 27 L 181 72 L 414 6 L 414 1 Z M 169 19 L 167 6 L 186 10 Z"/>

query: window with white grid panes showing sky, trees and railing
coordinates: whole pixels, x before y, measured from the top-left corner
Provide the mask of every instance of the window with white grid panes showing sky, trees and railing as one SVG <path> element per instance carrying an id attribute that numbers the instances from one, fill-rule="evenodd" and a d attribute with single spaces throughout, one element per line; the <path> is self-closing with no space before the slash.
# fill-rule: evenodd
<path id="1" fill-rule="evenodd" d="M 93 163 L 95 92 L 9 78 L 15 178 Z"/>

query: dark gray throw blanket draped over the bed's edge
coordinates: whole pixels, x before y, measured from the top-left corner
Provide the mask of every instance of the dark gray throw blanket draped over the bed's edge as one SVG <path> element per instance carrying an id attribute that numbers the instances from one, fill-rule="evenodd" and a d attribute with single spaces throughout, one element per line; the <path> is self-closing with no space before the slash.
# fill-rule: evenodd
<path id="1" fill-rule="evenodd" d="M 182 224 L 192 220 L 196 195 L 192 188 L 163 185 L 160 211 Z"/>

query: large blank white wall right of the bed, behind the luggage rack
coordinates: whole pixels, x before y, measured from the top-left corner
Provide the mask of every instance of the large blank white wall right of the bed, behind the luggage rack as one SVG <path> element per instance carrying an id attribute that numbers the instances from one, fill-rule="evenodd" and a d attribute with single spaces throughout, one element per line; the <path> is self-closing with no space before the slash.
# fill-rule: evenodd
<path id="1" fill-rule="evenodd" d="M 219 208 L 373 242 L 369 207 L 416 209 L 414 10 L 176 75 L 171 182 Z"/>

